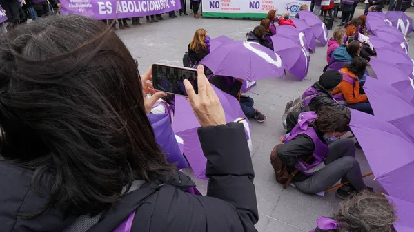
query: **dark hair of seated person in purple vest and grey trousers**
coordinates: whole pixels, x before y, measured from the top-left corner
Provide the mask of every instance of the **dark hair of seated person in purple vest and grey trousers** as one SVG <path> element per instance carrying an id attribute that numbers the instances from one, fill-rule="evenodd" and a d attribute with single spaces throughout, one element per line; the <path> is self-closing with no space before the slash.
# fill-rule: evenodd
<path id="1" fill-rule="evenodd" d="M 316 114 L 314 123 L 322 133 L 349 131 L 351 118 L 346 112 L 324 105 L 317 109 Z"/>

